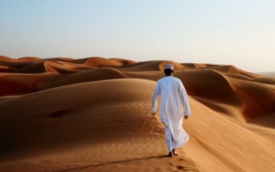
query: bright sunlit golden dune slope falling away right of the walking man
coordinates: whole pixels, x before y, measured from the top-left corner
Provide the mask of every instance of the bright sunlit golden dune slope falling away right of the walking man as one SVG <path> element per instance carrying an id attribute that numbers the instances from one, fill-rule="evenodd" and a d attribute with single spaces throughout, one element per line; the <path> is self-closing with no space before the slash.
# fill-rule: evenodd
<path id="1" fill-rule="evenodd" d="M 184 147 L 201 171 L 274 171 L 274 142 L 191 100 Z M 274 129 L 270 130 L 274 136 Z"/>

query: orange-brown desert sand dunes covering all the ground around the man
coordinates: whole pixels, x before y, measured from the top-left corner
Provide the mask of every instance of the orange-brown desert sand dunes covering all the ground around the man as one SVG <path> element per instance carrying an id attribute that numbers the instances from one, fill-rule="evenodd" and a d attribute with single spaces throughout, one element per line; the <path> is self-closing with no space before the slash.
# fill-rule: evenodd
<path id="1" fill-rule="evenodd" d="M 166 158 L 151 96 L 166 63 L 192 115 Z M 232 65 L 0 56 L 0 171 L 275 171 L 275 78 Z"/>

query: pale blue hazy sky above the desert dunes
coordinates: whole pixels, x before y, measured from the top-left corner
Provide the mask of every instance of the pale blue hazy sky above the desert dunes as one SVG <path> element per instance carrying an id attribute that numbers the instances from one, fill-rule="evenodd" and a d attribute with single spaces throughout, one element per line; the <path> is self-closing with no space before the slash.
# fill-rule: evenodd
<path id="1" fill-rule="evenodd" d="M 274 72 L 274 0 L 1 0 L 0 54 Z"/>

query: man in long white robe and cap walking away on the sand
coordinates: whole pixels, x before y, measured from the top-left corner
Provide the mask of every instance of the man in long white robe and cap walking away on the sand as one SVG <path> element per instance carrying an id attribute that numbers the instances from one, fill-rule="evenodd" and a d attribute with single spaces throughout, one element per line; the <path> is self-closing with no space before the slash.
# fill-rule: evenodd
<path id="1" fill-rule="evenodd" d="M 173 76 L 174 66 L 164 66 L 165 77 L 157 80 L 152 98 L 151 114 L 157 111 L 157 97 L 160 94 L 159 118 L 165 126 L 165 138 L 168 157 L 177 155 L 175 149 L 188 141 L 188 135 L 182 128 L 182 117 L 187 119 L 191 114 L 186 89 L 181 80 Z"/>

